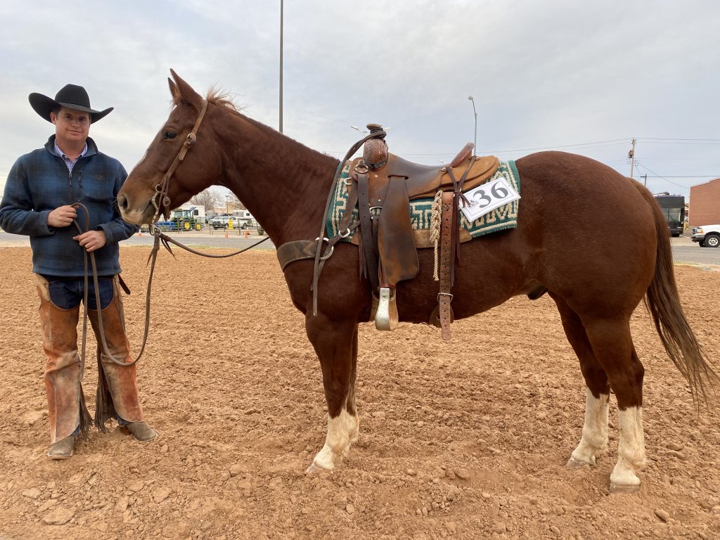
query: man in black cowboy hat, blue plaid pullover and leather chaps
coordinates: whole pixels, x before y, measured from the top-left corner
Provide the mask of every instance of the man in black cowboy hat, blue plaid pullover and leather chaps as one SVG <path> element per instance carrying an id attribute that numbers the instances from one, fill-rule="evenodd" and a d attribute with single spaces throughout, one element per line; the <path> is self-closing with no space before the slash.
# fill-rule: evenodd
<path id="1" fill-rule="evenodd" d="M 91 424 L 77 345 L 84 252 L 94 253 L 99 278 L 100 306 L 96 305 L 92 276 L 85 306 L 98 342 L 95 424 L 106 431 L 106 420 L 115 418 L 138 441 L 151 441 L 157 433 L 143 421 L 135 366 L 118 365 L 107 354 L 120 363 L 132 361 L 122 314 L 118 242 L 137 230 L 122 221 L 115 204 L 127 177 L 125 169 L 116 159 L 100 153 L 88 137 L 90 125 L 113 108 L 92 109 L 85 89 L 74 84 L 60 89 L 55 99 L 36 93 L 29 99 L 35 112 L 55 125 L 55 135 L 45 148 L 18 158 L 10 170 L 0 203 L 0 228 L 30 236 L 42 344 L 48 357 L 48 456 L 72 456 L 76 436 L 86 437 Z M 73 220 L 84 228 L 88 218 L 88 230 L 78 233 Z M 101 322 L 107 351 L 102 346 Z"/>

